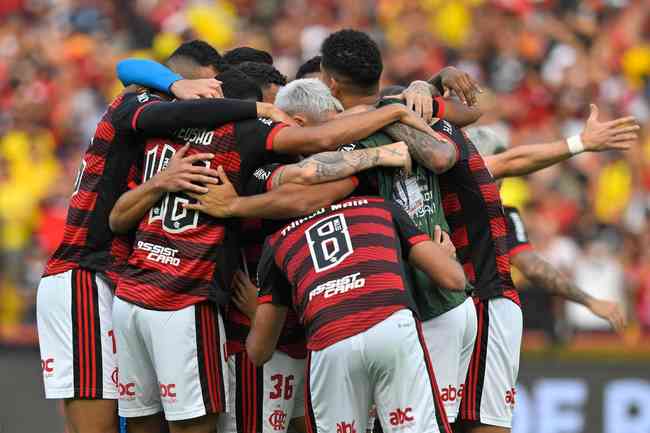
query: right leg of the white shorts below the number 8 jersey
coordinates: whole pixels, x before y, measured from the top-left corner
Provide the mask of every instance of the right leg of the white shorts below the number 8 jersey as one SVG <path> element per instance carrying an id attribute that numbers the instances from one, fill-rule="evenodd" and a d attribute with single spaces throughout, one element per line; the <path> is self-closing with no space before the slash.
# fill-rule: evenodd
<path id="1" fill-rule="evenodd" d="M 400 310 L 364 333 L 377 417 L 385 432 L 451 433 L 418 328 L 413 313 Z"/>

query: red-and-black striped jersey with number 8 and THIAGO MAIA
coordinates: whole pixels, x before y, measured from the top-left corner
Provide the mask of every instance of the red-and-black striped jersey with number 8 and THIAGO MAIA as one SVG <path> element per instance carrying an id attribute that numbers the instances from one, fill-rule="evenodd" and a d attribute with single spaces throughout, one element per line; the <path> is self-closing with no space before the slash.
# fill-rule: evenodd
<path id="1" fill-rule="evenodd" d="M 379 197 L 351 197 L 266 240 L 260 303 L 293 306 L 320 350 L 412 308 L 404 277 L 411 247 L 430 238 Z"/>

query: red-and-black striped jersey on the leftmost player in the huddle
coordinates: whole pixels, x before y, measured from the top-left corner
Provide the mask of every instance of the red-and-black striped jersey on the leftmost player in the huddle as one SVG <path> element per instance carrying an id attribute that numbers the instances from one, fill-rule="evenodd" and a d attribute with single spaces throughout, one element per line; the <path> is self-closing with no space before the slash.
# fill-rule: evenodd
<path id="1" fill-rule="evenodd" d="M 150 93 L 125 93 L 108 106 L 81 161 L 63 240 L 47 262 L 44 276 L 85 268 L 105 272 L 116 282 L 132 239 L 115 236 L 108 216 L 129 182 L 137 178 L 144 141 L 136 122 L 143 107 L 157 101 Z"/>

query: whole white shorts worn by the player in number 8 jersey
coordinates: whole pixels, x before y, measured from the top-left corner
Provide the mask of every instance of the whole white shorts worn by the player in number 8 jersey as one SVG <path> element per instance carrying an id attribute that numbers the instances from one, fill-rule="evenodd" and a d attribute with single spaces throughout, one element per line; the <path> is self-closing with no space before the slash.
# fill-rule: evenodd
<path id="1" fill-rule="evenodd" d="M 385 432 L 451 432 L 409 310 L 310 352 L 307 362 L 305 415 L 312 433 L 363 431 L 373 403 Z"/>

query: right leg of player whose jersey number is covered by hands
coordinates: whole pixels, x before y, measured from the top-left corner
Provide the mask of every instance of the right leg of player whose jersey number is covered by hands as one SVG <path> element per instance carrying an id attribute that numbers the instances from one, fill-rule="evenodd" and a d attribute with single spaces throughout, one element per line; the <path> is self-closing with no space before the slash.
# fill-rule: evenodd
<path id="1" fill-rule="evenodd" d="M 170 432 L 216 431 L 228 406 L 225 331 L 216 305 L 147 311 L 159 397 Z"/>

